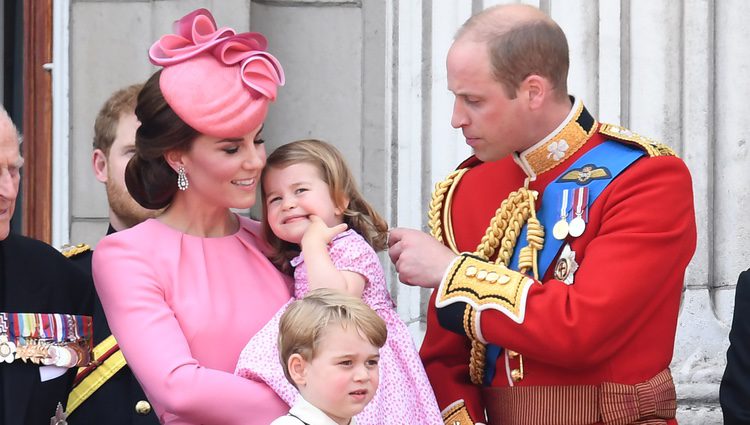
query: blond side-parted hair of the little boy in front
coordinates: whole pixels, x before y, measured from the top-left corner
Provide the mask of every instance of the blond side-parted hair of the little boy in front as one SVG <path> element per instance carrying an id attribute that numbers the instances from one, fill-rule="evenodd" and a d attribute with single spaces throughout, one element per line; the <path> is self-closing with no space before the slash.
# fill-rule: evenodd
<path id="1" fill-rule="evenodd" d="M 299 354 L 305 361 L 314 359 L 329 325 L 344 329 L 354 326 L 378 348 L 388 337 L 383 319 L 360 298 L 328 288 L 310 291 L 289 305 L 279 323 L 279 357 L 284 375 L 292 385 L 297 386 L 289 375 L 289 357 Z"/>

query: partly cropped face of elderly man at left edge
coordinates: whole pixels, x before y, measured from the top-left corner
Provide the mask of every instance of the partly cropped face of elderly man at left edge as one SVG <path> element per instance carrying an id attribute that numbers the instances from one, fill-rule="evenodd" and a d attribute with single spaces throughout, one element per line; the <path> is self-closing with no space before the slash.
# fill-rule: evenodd
<path id="1" fill-rule="evenodd" d="M 22 165 L 16 131 L 0 113 L 0 240 L 10 232 Z"/>

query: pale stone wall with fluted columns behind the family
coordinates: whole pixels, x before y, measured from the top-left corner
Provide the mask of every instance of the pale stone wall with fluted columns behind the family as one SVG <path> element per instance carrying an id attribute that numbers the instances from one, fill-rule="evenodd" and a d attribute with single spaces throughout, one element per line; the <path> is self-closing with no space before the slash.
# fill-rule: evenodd
<path id="1" fill-rule="evenodd" d="M 90 171 L 100 105 L 115 89 L 145 80 L 154 71 L 150 44 L 201 6 L 220 25 L 265 33 L 286 69 L 267 122 L 268 148 L 305 137 L 331 141 L 392 225 L 424 229 L 432 186 L 470 154 L 450 127 L 445 55 L 466 18 L 507 2 L 70 0 L 71 240 L 95 244 L 106 229 L 104 191 Z M 734 285 L 750 254 L 750 229 L 737 214 L 750 206 L 750 3 L 524 3 L 550 13 L 568 35 L 571 92 L 601 121 L 671 145 L 693 174 L 699 240 L 673 373 L 680 423 L 719 424 Z M 398 311 L 419 342 L 429 294 L 399 284 L 384 264 Z"/>

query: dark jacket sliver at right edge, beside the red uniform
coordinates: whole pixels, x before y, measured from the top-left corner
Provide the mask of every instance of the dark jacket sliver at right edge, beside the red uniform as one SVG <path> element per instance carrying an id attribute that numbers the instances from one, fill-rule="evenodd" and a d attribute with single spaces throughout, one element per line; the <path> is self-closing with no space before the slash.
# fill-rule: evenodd
<path id="1" fill-rule="evenodd" d="M 750 270 L 740 273 L 719 401 L 725 425 L 750 425 Z"/>

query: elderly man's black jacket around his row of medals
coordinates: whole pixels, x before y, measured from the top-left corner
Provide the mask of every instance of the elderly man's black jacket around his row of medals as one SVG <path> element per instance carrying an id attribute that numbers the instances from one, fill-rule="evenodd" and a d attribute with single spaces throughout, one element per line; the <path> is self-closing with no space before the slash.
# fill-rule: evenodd
<path id="1" fill-rule="evenodd" d="M 13 234 L 0 241 L 0 311 L 91 316 L 93 310 L 91 277 L 56 249 Z M 75 374 L 71 368 L 42 382 L 38 365 L 0 364 L 0 423 L 49 425 L 57 403 L 65 406 Z"/>

